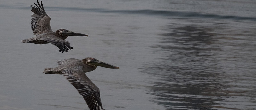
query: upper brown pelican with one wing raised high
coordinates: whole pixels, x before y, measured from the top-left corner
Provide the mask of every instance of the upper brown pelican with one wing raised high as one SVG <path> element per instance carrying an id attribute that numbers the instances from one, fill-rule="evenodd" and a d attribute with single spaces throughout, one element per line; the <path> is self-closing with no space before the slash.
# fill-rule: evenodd
<path id="1" fill-rule="evenodd" d="M 31 29 L 36 36 L 30 39 L 24 39 L 21 42 L 34 44 L 52 43 L 63 53 L 64 51 L 68 52 L 69 49 L 73 49 L 73 47 L 70 46 L 70 43 L 64 40 L 67 39 L 68 36 L 88 36 L 81 33 L 74 33 L 66 29 L 59 29 L 56 32 L 53 32 L 50 26 L 51 18 L 46 14 L 42 1 L 40 5 L 37 0 L 37 4 L 35 4 L 36 6 L 31 5 L 31 11 L 34 13 L 31 17 L 34 18 L 31 19 L 30 23 Z"/>

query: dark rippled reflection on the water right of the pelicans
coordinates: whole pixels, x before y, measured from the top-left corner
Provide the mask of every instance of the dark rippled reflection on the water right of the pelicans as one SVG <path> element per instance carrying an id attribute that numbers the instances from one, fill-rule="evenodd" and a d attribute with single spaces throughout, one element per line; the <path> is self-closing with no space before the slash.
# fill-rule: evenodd
<path id="1" fill-rule="evenodd" d="M 229 80 L 223 75 L 223 66 L 217 57 L 221 51 L 213 32 L 214 26 L 173 26 L 161 34 L 161 42 L 152 46 L 161 55 L 157 62 L 144 67 L 143 72 L 157 77 L 149 94 L 167 110 L 201 109 L 217 110 L 224 107 L 219 102 L 228 96 L 225 91 Z"/>

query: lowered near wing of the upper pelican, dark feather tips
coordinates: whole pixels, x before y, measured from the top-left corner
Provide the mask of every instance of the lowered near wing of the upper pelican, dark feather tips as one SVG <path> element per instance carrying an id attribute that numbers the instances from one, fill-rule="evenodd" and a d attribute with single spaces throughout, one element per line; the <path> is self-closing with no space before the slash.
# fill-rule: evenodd
<path id="1" fill-rule="evenodd" d="M 73 49 L 73 47 L 70 46 L 70 43 L 66 40 L 63 40 L 55 35 L 51 35 L 49 37 L 41 38 L 40 40 L 44 40 L 46 42 L 52 43 L 53 45 L 57 46 L 60 49 L 60 52 L 68 52 L 69 49 Z"/>

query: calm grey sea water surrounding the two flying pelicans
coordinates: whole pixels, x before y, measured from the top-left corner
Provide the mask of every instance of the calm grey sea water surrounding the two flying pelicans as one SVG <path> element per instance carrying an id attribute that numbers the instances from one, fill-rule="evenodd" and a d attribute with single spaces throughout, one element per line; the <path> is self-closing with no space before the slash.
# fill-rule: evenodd
<path id="1" fill-rule="evenodd" d="M 0 110 L 88 109 L 62 76 L 42 73 L 67 58 L 120 69 L 87 73 L 106 110 L 256 110 L 256 1 L 44 0 L 52 30 L 70 36 L 59 53 L 33 37 L 36 0 L 0 0 Z"/>

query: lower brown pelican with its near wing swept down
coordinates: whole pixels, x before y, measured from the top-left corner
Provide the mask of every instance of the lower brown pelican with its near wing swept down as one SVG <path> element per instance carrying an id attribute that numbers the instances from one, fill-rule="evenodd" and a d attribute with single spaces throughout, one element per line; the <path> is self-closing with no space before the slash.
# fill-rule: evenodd
<path id="1" fill-rule="evenodd" d="M 62 74 L 83 96 L 90 110 L 100 110 L 102 108 L 100 90 L 85 75 L 86 72 L 93 71 L 97 66 L 105 68 L 118 68 L 116 66 L 101 62 L 95 58 L 85 58 L 78 60 L 75 58 L 57 61 L 59 66 L 55 68 L 45 68 L 45 74 Z"/>

